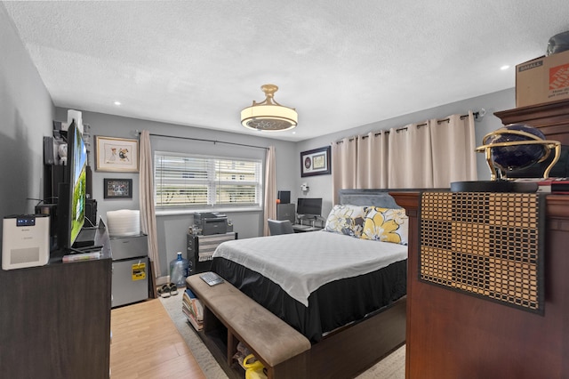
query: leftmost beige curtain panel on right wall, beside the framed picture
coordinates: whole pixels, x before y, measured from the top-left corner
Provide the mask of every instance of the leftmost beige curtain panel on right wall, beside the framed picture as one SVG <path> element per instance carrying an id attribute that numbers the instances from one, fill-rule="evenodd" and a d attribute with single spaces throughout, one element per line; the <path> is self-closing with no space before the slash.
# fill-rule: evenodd
<path id="1" fill-rule="evenodd" d="M 344 138 L 332 144 L 332 190 L 338 204 L 338 189 L 357 188 L 357 138 Z"/>

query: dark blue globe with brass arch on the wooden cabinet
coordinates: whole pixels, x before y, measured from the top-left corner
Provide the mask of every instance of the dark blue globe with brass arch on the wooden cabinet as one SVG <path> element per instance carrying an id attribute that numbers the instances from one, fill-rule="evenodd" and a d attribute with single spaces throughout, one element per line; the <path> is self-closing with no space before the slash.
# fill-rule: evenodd
<path id="1" fill-rule="evenodd" d="M 509 133 L 512 131 L 513 133 Z M 493 164 L 503 173 L 524 168 L 540 161 L 549 154 L 543 144 L 524 144 L 526 141 L 543 141 L 545 135 L 539 129 L 525 124 L 510 124 L 485 136 L 485 146 L 490 146 Z M 509 146 L 492 147 L 493 144 L 512 142 Z"/>

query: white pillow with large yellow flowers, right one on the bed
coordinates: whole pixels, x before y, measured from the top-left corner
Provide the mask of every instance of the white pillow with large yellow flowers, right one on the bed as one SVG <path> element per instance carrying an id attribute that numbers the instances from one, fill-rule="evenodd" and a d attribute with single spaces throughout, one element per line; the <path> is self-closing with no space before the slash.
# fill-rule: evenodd
<path id="1" fill-rule="evenodd" d="M 407 245 L 408 217 L 405 209 L 365 208 L 363 239 Z"/>

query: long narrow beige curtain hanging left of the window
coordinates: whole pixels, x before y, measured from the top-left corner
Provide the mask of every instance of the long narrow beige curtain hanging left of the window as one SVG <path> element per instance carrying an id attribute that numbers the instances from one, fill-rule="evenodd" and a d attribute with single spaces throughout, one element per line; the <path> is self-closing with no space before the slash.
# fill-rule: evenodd
<path id="1" fill-rule="evenodd" d="M 161 270 L 158 257 L 158 239 L 156 237 L 153 175 L 150 133 L 148 130 L 144 130 L 140 133 L 140 230 L 148 235 L 148 257 L 154 262 L 154 276 L 158 278 Z"/>

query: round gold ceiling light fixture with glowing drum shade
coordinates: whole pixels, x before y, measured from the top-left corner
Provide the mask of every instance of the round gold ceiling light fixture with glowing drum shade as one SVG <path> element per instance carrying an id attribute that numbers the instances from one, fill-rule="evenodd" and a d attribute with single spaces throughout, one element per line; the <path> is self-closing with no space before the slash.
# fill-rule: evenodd
<path id="1" fill-rule="evenodd" d="M 298 124 L 298 114 L 293 108 L 284 107 L 275 101 L 278 91 L 276 85 L 261 85 L 260 89 L 267 98 L 264 101 L 252 101 L 252 106 L 241 111 L 241 125 L 262 132 L 283 132 L 293 129 Z"/>

